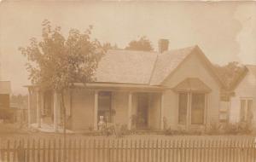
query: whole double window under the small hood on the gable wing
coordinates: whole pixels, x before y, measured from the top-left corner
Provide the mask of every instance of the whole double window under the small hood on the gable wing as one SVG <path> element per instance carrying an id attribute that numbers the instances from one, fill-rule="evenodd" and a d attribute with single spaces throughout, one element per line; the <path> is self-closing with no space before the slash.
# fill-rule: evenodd
<path id="1" fill-rule="evenodd" d="M 205 100 L 203 93 L 179 93 L 178 123 L 186 124 L 187 119 L 190 119 L 189 124 L 204 124 Z M 190 116 L 187 112 L 190 112 Z"/>

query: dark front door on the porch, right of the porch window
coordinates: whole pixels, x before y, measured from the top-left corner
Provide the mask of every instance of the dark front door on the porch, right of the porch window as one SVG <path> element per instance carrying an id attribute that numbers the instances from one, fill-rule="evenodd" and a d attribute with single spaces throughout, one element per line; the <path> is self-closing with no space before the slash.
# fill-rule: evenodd
<path id="1" fill-rule="evenodd" d="M 137 95 L 137 128 L 148 127 L 148 94 L 138 93 Z"/>

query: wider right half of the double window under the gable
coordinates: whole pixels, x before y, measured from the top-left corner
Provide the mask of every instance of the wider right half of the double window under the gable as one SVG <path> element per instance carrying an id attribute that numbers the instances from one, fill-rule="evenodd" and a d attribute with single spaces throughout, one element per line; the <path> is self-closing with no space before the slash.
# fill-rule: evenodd
<path id="1" fill-rule="evenodd" d="M 205 95 L 192 94 L 191 124 L 204 123 Z"/>

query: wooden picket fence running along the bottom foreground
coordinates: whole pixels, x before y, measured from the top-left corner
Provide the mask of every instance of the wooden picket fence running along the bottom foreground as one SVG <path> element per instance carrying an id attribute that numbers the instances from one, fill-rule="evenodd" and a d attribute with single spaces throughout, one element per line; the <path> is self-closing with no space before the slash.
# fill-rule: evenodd
<path id="1" fill-rule="evenodd" d="M 130 141 L 130 142 L 129 142 Z M 254 162 L 255 143 L 252 138 L 235 139 L 113 139 L 95 138 L 67 140 L 64 156 L 61 139 L 28 139 L 1 141 L 0 155 L 5 162 Z M 23 149 L 22 149 L 23 148 Z M 20 151 L 19 151 L 20 150 Z M 23 152 L 22 152 L 23 150 Z M 20 155 L 21 153 L 21 155 Z M 23 160 L 24 161 L 24 160 Z M 23 162 L 22 161 L 22 162 Z"/>

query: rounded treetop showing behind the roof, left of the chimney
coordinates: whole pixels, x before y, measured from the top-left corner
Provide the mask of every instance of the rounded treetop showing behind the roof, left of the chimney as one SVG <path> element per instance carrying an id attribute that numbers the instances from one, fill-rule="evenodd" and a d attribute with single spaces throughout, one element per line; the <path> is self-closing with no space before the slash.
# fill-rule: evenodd
<path id="1" fill-rule="evenodd" d="M 148 38 L 141 37 L 138 40 L 131 41 L 125 49 L 131 49 L 131 50 L 143 50 L 143 51 L 153 51 L 154 48 L 152 47 L 151 42 L 148 40 Z"/>

